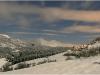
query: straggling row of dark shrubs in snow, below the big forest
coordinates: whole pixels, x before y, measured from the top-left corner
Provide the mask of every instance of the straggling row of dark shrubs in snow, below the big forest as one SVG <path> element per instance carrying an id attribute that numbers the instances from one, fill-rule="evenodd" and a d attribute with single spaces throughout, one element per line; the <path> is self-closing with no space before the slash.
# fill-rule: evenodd
<path id="1" fill-rule="evenodd" d="M 41 65 L 41 64 L 44 64 L 44 63 L 50 63 L 50 62 L 56 62 L 57 60 L 50 60 L 50 59 L 44 59 L 43 61 L 40 61 L 40 62 L 37 62 L 37 63 L 26 63 L 26 62 L 21 62 L 21 63 L 18 63 L 16 64 L 16 67 L 13 68 L 11 67 L 11 64 L 6 63 L 5 65 L 2 66 L 1 68 L 1 71 L 2 72 L 6 72 L 6 71 L 12 71 L 12 70 L 18 70 L 18 69 L 23 69 L 23 68 L 29 68 L 29 67 L 34 67 L 36 65 Z"/>

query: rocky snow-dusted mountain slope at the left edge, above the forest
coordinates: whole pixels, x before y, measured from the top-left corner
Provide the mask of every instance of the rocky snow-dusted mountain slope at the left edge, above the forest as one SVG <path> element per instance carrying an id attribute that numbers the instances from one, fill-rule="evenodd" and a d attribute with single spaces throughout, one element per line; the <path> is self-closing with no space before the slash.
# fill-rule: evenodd
<path id="1" fill-rule="evenodd" d="M 25 47 L 26 42 L 19 39 L 12 39 L 6 34 L 0 34 L 0 47 L 10 47 L 12 49 Z"/>

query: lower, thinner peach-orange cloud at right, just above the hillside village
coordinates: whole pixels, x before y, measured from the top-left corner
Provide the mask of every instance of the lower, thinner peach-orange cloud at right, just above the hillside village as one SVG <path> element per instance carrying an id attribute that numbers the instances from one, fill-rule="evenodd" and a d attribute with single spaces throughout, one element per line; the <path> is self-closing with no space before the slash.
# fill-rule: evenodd
<path id="1" fill-rule="evenodd" d="M 62 33 L 74 33 L 74 32 L 84 32 L 84 33 L 100 33 L 100 25 L 86 26 L 86 25 L 73 25 L 70 27 L 63 28 Z"/>

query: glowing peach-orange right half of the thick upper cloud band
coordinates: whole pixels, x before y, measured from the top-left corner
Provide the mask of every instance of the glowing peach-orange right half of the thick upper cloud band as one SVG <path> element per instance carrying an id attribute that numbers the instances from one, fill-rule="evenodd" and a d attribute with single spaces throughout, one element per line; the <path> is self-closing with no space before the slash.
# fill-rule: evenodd
<path id="1" fill-rule="evenodd" d="M 84 11 L 84 10 L 62 10 L 55 8 L 50 10 L 53 19 L 56 20 L 75 20 L 85 22 L 100 22 L 100 11 Z M 50 16 L 48 16 L 50 17 Z M 46 17 L 47 18 L 47 17 Z"/>

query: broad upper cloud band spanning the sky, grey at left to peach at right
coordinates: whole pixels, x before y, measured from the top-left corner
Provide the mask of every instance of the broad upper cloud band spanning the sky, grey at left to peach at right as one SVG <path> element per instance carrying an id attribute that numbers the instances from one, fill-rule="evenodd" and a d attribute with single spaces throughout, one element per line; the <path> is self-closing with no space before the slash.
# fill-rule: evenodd
<path id="1" fill-rule="evenodd" d="M 29 26 L 33 22 L 52 23 L 59 20 L 100 22 L 99 10 L 85 11 L 62 9 L 61 7 L 39 7 L 28 3 L 19 4 L 18 2 L 0 2 L 0 10 L 0 23 L 8 24 L 19 20 L 20 26 Z"/>

